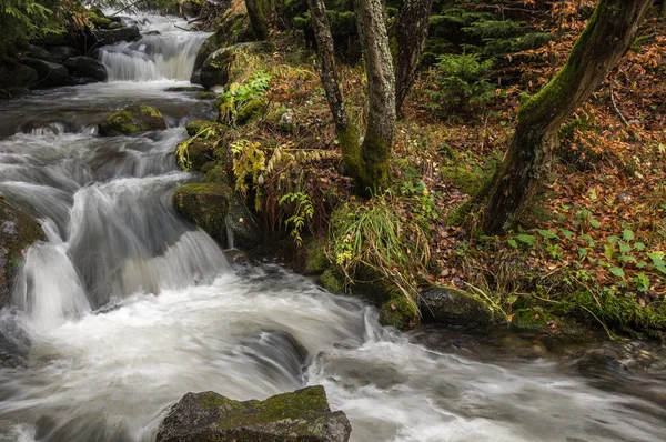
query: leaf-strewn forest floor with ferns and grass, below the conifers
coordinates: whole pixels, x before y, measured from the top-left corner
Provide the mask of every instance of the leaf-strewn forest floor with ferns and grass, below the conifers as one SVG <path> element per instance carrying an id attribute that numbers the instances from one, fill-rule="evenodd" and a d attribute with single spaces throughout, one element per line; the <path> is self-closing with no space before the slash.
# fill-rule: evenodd
<path id="1" fill-rule="evenodd" d="M 236 57 L 233 83 L 216 101 L 223 122 L 236 120 L 226 121 L 232 129 L 223 139 L 233 158 L 225 167 L 266 230 L 291 233 L 301 251 L 311 234 L 317 242 L 329 241 L 330 262 L 350 277 L 346 290 L 353 291 L 353 271 L 346 272 L 345 265 L 356 258 L 363 261 L 363 250 L 357 244 L 341 248 L 336 225 L 345 217 L 356 219 L 359 208 L 369 213 L 381 208 L 387 217 L 396 217 L 398 258 L 377 265 L 386 268 L 386 274 L 413 275 L 403 278 L 405 284 L 462 289 L 503 321 L 551 333 L 584 324 L 603 327 L 610 336 L 619 331 L 663 339 L 663 19 L 644 24 L 643 37 L 562 128 L 551 177 L 515 232 L 485 237 L 474 213 L 462 217 L 456 210 L 502 161 L 521 97 L 538 91 L 564 64 L 584 24 L 567 20 L 557 30 L 558 39 L 513 54 L 505 68 L 518 80 L 498 84 L 490 103 L 465 113 L 444 112 L 433 101 L 434 71 L 421 72 L 405 118 L 396 125 L 394 185 L 366 201 L 353 195 L 351 180 L 341 173 L 315 54 L 291 33 L 274 31 L 269 51 L 264 44 L 261 51 Z M 505 68 L 496 68 L 496 73 Z M 363 127 L 364 71 L 361 66 L 343 66 L 341 78 L 351 119 Z M 256 117 L 241 115 L 258 107 Z"/>

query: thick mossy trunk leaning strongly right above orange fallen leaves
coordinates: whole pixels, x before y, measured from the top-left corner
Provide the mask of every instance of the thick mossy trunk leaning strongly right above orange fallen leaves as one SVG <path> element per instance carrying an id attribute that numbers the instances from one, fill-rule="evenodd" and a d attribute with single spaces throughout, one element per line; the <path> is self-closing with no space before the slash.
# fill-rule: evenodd
<path id="1" fill-rule="evenodd" d="M 502 167 L 483 191 L 483 230 L 513 228 L 549 171 L 562 123 L 578 109 L 625 54 L 652 0 L 601 0 L 569 58 L 548 84 L 518 112 L 515 135 Z"/>

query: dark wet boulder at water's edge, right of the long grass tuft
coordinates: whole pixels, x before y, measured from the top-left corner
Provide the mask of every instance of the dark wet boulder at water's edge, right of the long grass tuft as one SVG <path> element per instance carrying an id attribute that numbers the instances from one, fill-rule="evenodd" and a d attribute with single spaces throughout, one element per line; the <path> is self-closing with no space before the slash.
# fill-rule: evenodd
<path id="1" fill-rule="evenodd" d="M 478 300 L 453 288 L 437 288 L 421 293 L 423 322 L 481 327 L 493 321 L 492 312 Z"/>

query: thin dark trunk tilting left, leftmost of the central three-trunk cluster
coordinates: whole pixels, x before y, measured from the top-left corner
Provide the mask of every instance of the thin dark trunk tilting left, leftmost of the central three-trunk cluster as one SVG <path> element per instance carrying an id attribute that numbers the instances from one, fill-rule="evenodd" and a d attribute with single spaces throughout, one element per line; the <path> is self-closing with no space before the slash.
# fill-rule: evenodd
<path id="1" fill-rule="evenodd" d="M 326 92 L 329 108 L 335 122 L 335 132 L 342 151 L 342 160 L 351 177 L 359 179 L 361 175 L 361 147 L 359 144 L 359 132 L 350 123 L 344 107 L 342 92 L 340 91 L 340 79 L 335 68 L 335 52 L 331 24 L 326 17 L 326 7 L 323 0 L 307 0 L 312 28 L 316 40 L 317 52 L 321 58 L 322 69 L 320 77 Z"/>

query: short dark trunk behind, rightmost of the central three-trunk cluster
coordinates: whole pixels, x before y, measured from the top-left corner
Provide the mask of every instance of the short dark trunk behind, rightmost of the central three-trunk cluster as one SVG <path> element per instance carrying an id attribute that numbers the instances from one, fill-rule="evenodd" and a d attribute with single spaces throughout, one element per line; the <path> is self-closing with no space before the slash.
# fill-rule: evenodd
<path id="1" fill-rule="evenodd" d="M 414 84 L 416 68 L 425 48 L 433 0 L 403 0 L 395 22 L 395 113 L 403 117 L 403 104 Z"/>

